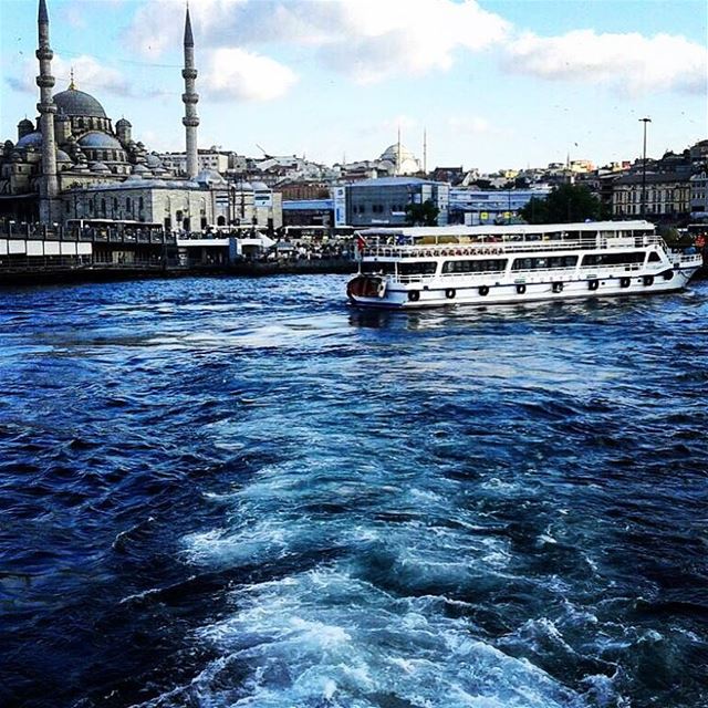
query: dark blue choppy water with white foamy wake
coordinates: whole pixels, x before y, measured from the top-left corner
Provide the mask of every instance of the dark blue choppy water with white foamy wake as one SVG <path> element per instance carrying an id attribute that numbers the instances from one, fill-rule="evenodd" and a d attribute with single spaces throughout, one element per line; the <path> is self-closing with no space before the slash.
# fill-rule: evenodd
<path id="1" fill-rule="evenodd" d="M 708 283 L 0 292 L 0 705 L 708 705 Z"/>

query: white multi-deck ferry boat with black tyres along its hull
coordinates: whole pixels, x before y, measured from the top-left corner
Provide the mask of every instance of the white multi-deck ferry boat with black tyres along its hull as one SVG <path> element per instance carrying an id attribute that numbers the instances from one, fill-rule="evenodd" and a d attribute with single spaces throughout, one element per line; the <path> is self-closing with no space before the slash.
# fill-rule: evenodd
<path id="1" fill-rule="evenodd" d="M 648 221 L 373 228 L 356 239 L 346 292 L 377 308 L 670 292 L 702 262 L 670 250 Z"/>

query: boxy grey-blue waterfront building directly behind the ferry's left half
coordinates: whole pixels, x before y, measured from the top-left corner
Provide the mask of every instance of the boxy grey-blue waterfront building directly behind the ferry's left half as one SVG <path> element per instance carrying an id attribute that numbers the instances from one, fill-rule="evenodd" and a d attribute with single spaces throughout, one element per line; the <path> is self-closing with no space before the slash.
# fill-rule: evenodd
<path id="1" fill-rule="evenodd" d="M 364 179 L 334 188 L 335 226 L 404 226 L 406 207 L 431 201 L 438 226 L 448 222 L 450 186 L 418 177 Z"/>

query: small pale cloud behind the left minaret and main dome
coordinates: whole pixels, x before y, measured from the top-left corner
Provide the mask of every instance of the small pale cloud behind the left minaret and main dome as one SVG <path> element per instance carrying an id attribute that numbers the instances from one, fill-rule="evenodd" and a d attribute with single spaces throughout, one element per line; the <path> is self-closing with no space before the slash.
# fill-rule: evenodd
<path id="1" fill-rule="evenodd" d="M 83 54 L 71 60 L 65 60 L 59 54 L 54 54 L 52 60 L 52 75 L 56 77 L 54 93 L 69 87 L 71 70 L 74 70 L 76 88 L 91 94 L 110 93 L 118 96 L 131 95 L 131 84 L 123 74 L 101 64 L 93 56 Z M 39 67 L 37 60 L 27 59 L 18 66 L 13 76 L 6 79 L 7 83 L 15 91 L 24 93 L 37 93 L 35 76 Z"/>

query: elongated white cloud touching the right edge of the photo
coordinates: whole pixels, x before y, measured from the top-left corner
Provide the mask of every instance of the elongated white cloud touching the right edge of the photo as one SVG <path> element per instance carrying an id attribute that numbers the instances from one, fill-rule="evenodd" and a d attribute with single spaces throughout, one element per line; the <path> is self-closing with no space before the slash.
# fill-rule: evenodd
<path id="1" fill-rule="evenodd" d="M 683 37 L 575 30 L 554 38 L 523 34 L 507 51 L 509 71 L 540 79 L 608 85 L 631 95 L 706 91 L 706 48 Z"/>

